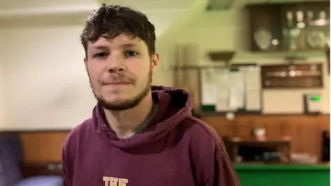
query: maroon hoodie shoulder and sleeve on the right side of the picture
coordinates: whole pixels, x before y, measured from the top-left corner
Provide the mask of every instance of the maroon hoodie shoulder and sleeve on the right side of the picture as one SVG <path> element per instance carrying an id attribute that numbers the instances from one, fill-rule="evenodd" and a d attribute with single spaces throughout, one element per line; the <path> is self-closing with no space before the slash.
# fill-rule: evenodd
<path id="1" fill-rule="evenodd" d="M 196 185 L 239 186 L 239 178 L 226 153 L 221 137 L 203 121 L 190 117 L 184 125 L 190 126 L 190 167 Z"/>

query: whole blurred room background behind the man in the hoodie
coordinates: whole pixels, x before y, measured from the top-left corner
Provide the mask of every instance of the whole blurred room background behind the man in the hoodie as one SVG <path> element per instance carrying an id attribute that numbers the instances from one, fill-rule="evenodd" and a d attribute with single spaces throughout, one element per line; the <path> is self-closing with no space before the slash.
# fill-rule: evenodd
<path id="1" fill-rule="evenodd" d="M 100 3 L 154 23 L 153 84 L 192 94 L 243 186 L 330 185 L 330 1 L 316 0 L 0 0 L 0 148 L 16 148 L 17 179 L 61 176 L 63 141 L 91 116 L 79 35 Z"/>

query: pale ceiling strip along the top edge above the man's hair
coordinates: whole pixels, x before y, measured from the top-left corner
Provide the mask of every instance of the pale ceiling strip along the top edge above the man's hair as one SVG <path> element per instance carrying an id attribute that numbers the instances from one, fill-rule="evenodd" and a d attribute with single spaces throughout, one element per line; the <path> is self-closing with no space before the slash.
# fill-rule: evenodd
<path id="1" fill-rule="evenodd" d="M 142 12 L 185 10 L 194 0 L 0 0 L 0 19 L 41 14 L 86 14 L 100 3 L 129 6 Z"/>

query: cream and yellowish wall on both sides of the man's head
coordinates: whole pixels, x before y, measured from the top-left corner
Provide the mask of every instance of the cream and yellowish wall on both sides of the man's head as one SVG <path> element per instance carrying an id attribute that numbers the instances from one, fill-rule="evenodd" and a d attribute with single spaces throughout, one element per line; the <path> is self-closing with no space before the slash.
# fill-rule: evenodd
<path id="1" fill-rule="evenodd" d="M 238 50 L 234 61 L 240 63 L 283 61 L 280 54 L 244 52 L 248 45 L 245 39 L 248 34 L 245 12 L 239 9 L 205 12 L 205 2 L 207 1 L 196 1 L 190 14 L 185 14 L 185 19 L 179 19 L 177 25 L 170 27 L 168 32 L 163 30 L 173 19 L 183 15 L 183 12 L 148 13 L 157 27 L 157 50 L 161 57 L 159 70 L 153 77 L 154 84 L 173 85 L 171 65 L 174 64 L 174 46 L 177 43 L 199 45 L 199 64 L 211 63 L 205 55 L 210 50 Z M 95 101 L 83 68 L 84 54 L 79 43 L 85 18 L 86 15 L 32 17 L 28 20 L 12 19 L 5 23 L 6 27 L 2 25 L 3 39 L 0 46 L 6 46 L 1 51 L 4 51 L 2 65 L 6 83 L 4 96 L 7 121 L 0 123 L 1 129 L 72 128 L 90 116 Z M 312 56 L 312 61 L 325 59 L 324 56 Z M 329 84 L 329 79 L 325 76 L 325 85 Z M 323 112 L 329 112 L 329 88 L 311 91 L 323 94 Z M 301 112 L 303 92 L 305 91 L 265 91 L 264 111 Z M 284 107 L 283 103 L 292 104 Z"/>

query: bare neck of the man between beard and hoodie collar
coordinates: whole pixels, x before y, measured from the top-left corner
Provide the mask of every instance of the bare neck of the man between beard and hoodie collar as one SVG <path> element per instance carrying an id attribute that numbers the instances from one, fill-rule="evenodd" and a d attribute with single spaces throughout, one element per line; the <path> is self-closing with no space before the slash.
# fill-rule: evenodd
<path id="1" fill-rule="evenodd" d="M 129 110 L 112 111 L 103 109 L 108 125 L 119 138 L 134 133 L 143 124 L 152 110 L 152 93 L 148 95 L 135 107 Z"/>

